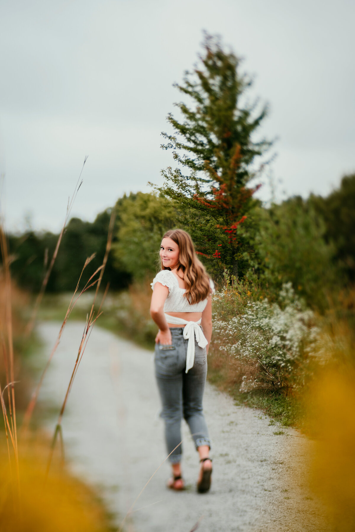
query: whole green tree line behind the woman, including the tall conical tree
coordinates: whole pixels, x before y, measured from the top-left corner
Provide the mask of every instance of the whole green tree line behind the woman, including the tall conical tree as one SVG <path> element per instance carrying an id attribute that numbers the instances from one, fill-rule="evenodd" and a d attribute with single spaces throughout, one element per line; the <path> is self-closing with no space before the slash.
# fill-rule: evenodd
<path id="1" fill-rule="evenodd" d="M 271 142 L 258 137 L 267 105 L 249 102 L 251 80 L 240 59 L 218 38 L 205 36 L 200 63 L 176 84 L 184 101 L 168 115 L 163 149 L 175 167 L 162 171 L 161 187 L 129 194 L 117 211 L 112 253 L 103 281 L 119 290 L 156 271 L 162 234 L 190 232 L 196 251 L 216 280 L 258 286 L 273 297 L 284 282 L 311 306 L 355 280 L 355 174 L 327 197 L 291 197 L 265 207 L 255 199 Z M 68 223 L 48 291 L 73 290 L 88 255 L 101 264 L 111 209 L 94 222 Z M 57 235 L 9 235 L 12 273 L 37 291 Z M 89 272 L 88 272 L 89 273 Z M 104 285 L 103 285 L 104 286 Z"/>

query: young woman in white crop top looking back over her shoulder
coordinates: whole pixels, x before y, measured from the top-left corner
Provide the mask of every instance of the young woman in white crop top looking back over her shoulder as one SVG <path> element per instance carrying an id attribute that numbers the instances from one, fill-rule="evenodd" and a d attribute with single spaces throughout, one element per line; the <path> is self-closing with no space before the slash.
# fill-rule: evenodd
<path id="1" fill-rule="evenodd" d="M 161 271 L 152 282 L 150 314 L 159 327 L 155 338 L 155 376 L 172 478 L 168 487 L 184 489 L 181 476 L 181 418 L 187 421 L 200 454 L 197 491 L 211 485 L 211 442 L 202 411 L 207 353 L 212 334 L 213 281 L 197 259 L 191 236 L 182 229 L 166 232 L 160 246 Z"/>

